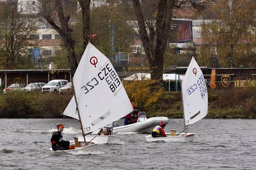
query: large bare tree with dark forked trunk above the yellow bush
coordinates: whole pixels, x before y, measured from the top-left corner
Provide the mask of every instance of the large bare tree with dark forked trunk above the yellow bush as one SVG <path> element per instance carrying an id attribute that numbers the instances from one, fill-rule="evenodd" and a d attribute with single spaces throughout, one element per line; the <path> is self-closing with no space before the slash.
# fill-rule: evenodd
<path id="1" fill-rule="evenodd" d="M 202 10 L 201 0 L 133 0 L 134 13 L 138 21 L 140 39 L 151 67 L 151 77 L 161 80 L 164 53 L 170 35 L 172 12 L 177 8 Z"/>

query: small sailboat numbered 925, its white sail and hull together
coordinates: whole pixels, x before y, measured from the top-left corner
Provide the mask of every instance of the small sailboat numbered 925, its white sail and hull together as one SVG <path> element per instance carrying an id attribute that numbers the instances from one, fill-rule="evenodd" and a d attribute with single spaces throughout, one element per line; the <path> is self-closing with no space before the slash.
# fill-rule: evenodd
<path id="1" fill-rule="evenodd" d="M 184 131 L 178 135 L 166 133 L 167 137 L 153 138 L 146 136 L 147 141 L 193 141 L 196 133 L 187 133 L 186 127 L 204 118 L 208 113 L 208 93 L 204 75 L 194 57 L 189 63 L 188 70 L 181 83 L 181 98 L 183 106 Z"/>

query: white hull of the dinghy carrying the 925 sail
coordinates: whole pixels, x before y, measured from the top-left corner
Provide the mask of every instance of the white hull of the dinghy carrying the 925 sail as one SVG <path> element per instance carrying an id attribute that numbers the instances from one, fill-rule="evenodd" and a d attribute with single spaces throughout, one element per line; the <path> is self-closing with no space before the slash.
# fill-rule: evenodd
<path id="1" fill-rule="evenodd" d="M 146 140 L 147 142 L 152 142 L 152 141 L 173 141 L 173 142 L 188 142 L 188 141 L 193 141 L 196 133 L 187 133 L 187 135 L 185 135 L 185 133 L 180 133 L 179 136 L 173 136 L 171 137 L 171 133 L 166 133 L 167 137 L 156 137 L 153 138 L 151 135 L 146 136 Z"/>

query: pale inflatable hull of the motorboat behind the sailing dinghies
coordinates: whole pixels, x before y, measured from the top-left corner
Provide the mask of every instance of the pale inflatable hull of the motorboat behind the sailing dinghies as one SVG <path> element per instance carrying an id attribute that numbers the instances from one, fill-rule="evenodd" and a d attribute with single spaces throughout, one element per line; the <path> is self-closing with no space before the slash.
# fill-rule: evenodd
<path id="1" fill-rule="evenodd" d="M 137 122 L 135 124 L 128 124 L 125 126 L 118 126 L 113 128 L 113 132 L 141 132 L 151 133 L 156 125 L 159 125 L 161 121 L 164 124 L 168 124 L 169 119 L 167 117 L 151 117 L 144 122 Z"/>

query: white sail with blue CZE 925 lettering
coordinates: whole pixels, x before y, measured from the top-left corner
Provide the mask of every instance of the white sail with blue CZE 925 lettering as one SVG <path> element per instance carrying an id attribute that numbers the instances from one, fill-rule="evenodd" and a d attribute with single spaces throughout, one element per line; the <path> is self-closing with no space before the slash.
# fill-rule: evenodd
<path id="1" fill-rule="evenodd" d="M 208 92 L 203 72 L 194 57 L 192 57 L 182 81 L 182 97 L 186 126 L 207 115 Z"/>

